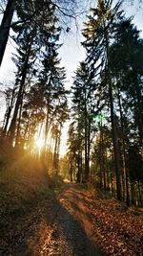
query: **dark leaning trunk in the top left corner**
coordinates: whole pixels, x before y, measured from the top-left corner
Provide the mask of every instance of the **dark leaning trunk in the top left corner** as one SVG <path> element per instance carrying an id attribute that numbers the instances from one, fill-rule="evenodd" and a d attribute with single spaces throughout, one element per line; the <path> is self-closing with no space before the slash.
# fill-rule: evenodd
<path id="1" fill-rule="evenodd" d="M 8 38 L 10 35 L 10 25 L 12 21 L 13 12 L 15 10 L 15 0 L 8 0 L 6 10 L 0 26 L 0 66 L 4 57 Z"/>

